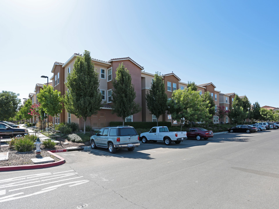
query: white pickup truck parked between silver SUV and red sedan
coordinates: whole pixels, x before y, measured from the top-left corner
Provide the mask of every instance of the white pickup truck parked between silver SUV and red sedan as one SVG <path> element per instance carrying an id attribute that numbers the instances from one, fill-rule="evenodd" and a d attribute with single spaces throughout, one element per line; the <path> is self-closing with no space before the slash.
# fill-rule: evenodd
<path id="1" fill-rule="evenodd" d="M 153 127 L 149 132 L 140 134 L 140 138 L 142 139 L 142 143 L 147 143 L 152 140 L 153 142 L 164 141 L 166 145 L 170 145 L 172 141 L 179 144 L 183 139 L 187 139 L 187 132 L 169 131 L 166 126 L 157 126 Z"/>

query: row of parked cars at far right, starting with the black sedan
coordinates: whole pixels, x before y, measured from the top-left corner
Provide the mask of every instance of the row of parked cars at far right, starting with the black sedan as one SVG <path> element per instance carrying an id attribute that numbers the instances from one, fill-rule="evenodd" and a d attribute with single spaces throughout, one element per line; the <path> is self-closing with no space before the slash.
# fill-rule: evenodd
<path id="1" fill-rule="evenodd" d="M 228 132 L 246 132 L 246 133 L 253 133 L 262 130 L 268 129 L 278 129 L 279 123 L 275 122 L 259 122 L 251 125 L 237 125 L 235 127 L 231 127 L 228 129 Z"/>

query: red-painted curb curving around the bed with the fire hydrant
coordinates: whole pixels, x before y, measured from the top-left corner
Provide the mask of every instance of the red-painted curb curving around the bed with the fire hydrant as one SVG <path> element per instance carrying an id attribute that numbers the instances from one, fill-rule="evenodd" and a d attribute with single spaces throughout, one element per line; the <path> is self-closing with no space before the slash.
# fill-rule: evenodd
<path id="1" fill-rule="evenodd" d="M 50 154 L 53 156 L 57 157 L 60 159 L 60 161 L 52 162 L 52 163 L 43 163 L 43 164 L 38 164 L 38 165 L 16 165 L 16 166 L 3 166 L 0 167 L 0 172 L 1 171 L 17 171 L 17 170 L 30 170 L 30 169 L 40 169 L 40 168 L 48 168 L 48 167 L 54 167 L 58 165 L 62 165 L 66 163 L 65 159 L 58 156 L 57 154 L 54 154 L 50 151 L 48 151 Z"/>

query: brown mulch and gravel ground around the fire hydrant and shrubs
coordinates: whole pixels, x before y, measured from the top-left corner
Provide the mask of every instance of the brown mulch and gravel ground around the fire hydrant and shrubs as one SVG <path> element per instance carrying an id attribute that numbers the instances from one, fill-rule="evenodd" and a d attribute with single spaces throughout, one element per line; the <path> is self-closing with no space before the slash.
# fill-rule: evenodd
<path id="1" fill-rule="evenodd" d="M 63 144 L 63 143 L 69 143 L 69 144 Z M 54 149 L 45 149 L 44 146 L 41 146 L 41 157 L 51 157 L 55 161 L 59 161 L 60 159 L 50 154 L 49 150 L 55 150 L 55 149 L 66 149 L 67 147 L 84 147 L 89 146 L 90 142 L 85 143 L 75 143 L 68 140 L 61 140 L 62 146 L 56 145 Z M 34 165 L 32 158 L 36 158 L 36 149 L 34 148 L 30 152 L 17 152 L 16 150 L 10 149 L 10 147 L 1 147 L 0 152 L 9 152 L 8 154 L 8 160 L 2 160 L 0 161 L 0 167 L 2 166 L 16 166 L 16 165 Z M 57 154 L 57 153 L 56 153 Z"/>

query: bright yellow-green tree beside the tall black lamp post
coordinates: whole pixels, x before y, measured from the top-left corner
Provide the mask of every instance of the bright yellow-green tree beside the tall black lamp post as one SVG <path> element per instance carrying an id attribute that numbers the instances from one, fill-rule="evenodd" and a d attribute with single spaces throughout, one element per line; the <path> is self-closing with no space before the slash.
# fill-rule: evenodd
<path id="1" fill-rule="evenodd" d="M 52 117 L 58 116 L 62 112 L 62 96 L 61 92 L 53 90 L 52 86 L 44 85 L 37 94 L 40 107 L 46 114 Z M 44 118 L 44 117 L 43 117 Z"/>

